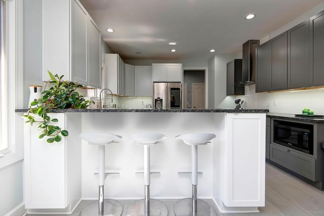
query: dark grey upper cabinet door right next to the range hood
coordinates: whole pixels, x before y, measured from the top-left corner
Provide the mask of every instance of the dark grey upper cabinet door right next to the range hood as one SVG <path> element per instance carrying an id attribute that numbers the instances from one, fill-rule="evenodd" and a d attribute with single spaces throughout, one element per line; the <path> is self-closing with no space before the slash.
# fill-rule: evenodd
<path id="1" fill-rule="evenodd" d="M 271 41 L 256 49 L 256 92 L 271 90 Z"/>

